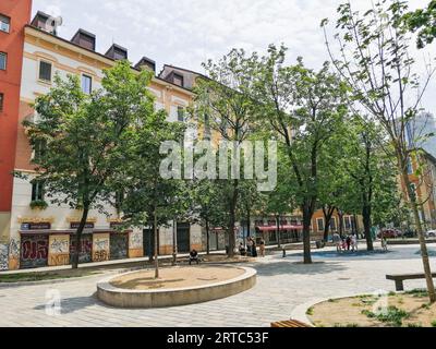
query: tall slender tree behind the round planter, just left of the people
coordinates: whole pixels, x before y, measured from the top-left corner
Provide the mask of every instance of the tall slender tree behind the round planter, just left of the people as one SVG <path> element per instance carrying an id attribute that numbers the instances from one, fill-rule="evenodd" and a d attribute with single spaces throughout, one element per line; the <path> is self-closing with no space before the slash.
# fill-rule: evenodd
<path id="1" fill-rule="evenodd" d="M 254 125 L 256 109 L 251 99 L 253 62 L 253 57 L 247 58 L 243 50 L 233 49 L 218 62 L 209 60 L 204 63 L 203 67 L 209 79 L 199 79 L 194 88 L 199 122 L 207 116 L 210 130 L 219 134 L 221 141 L 229 142 L 233 146 L 231 161 L 234 163 L 238 163 L 238 153 L 242 149 L 242 143 L 249 139 Z M 228 178 L 228 180 L 221 178 L 219 185 L 226 193 L 225 201 L 229 218 L 228 253 L 229 256 L 233 256 L 240 179 L 234 170 L 231 170 Z"/>

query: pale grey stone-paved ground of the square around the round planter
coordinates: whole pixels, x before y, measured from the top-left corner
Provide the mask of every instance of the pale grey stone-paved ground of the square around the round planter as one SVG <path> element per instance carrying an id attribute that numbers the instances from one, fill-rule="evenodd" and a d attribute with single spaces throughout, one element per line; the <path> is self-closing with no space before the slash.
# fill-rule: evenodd
<path id="1" fill-rule="evenodd" d="M 269 326 L 287 320 L 303 303 L 318 298 L 346 297 L 379 289 L 395 290 L 389 273 L 422 270 L 417 245 L 395 246 L 387 254 L 338 255 L 331 250 L 314 251 L 313 265 L 303 265 L 301 253 L 281 253 L 259 258 L 256 286 L 217 301 L 153 310 L 121 310 L 107 306 L 96 297 L 96 282 L 86 278 L 50 285 L 0 288 L 0 326 Z M 434 250 L 434 248 L 433 248 Z M 432 257 L 436 269 L 436 258 Z M 405 281 L 405 288 L 423 288 L 424 280 Z M 46 313 L 47 299 L 61 296 L 61 314 Z"/>

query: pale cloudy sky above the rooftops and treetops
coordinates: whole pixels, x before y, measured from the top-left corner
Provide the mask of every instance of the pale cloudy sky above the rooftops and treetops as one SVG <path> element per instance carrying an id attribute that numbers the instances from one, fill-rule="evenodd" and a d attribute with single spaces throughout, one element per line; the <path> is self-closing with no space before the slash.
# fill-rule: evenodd
<path id="1" fill-rule="evenodd" d="M 202 62 L 219 59 L 231 48 L 265 52 L 269 44 L 281 43 L 289 48 L 289 62 L 302 56 L 307 67 L 318 69 L 328 60 L 319 23 L 325 17 L 334 22 L 343 1 L 34 0 L 33 13 L 61 15 L 59 36 L 63 38 L 71 39 L 81 27 L 97 36 L 97 51 L 105 53 L 116 43 L 129 49 L 133 63 L 146 56 L 156 61 L 158 71 L 173 64 L 203 73 Z M 351 0 L 362 11 L 371 3 Z M 409 3 L 416 9 L 428 0 Z M 436 57 L 436 43 L 414 55 L 420 62 Z M 436 77 L 423 107 L 436 113 Z"/>

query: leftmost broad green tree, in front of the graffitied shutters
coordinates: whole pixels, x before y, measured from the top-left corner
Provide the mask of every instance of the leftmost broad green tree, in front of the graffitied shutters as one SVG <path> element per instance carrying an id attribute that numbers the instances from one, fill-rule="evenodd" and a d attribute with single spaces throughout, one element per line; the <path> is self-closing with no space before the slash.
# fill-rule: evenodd
<path id="1" fill-rule="evenodd" d="M 32 146 L 45 144 L 34 163 L 51 203 L 82 209 L 76 246 L 89 210 L 105 212 L 113 198 L 111 183 L 123 171 L 132 135 L 153 112 L 149 81 L 149 73 L 135 74 L 125 61 L 106 70 L 102 88 L 90 95 L 82 92 L 77 76 L 56 76 L 55 87 L 35 101 L 38 117 L 25 122 Z"/>

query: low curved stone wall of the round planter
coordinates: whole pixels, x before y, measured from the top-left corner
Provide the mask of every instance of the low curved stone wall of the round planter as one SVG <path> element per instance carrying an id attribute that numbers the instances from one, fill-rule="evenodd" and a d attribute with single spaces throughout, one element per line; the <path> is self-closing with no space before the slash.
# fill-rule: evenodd
<path id="1" fill-rule="evenodd" d="M 222 267 L 232 268 L 229 266 Z M 111 277 L 97 284 L 97 297 L 104 303 L 117 308 L 166 308 L 207 302 L 234 296 L 254 287 L 257 272 L 247 267 L 238 268 L 243 269 L 244 274 L 233 279 L 204 286 L 158 290 L 117 288 L 111 284 L 116 278 Z M 125 275 L 135 273 L 137 272 Z"/>

